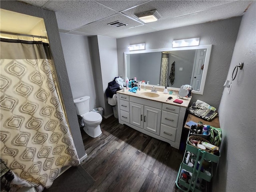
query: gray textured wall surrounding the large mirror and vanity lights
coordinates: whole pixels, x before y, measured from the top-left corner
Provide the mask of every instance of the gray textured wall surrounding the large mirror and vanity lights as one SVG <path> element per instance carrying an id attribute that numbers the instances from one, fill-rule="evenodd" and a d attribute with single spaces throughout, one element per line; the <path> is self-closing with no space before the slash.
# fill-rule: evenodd
<path id="1" fill-rule="evenodd" d="M 173 40 L 200 37 L 200 45 L 213 46 L 204 94 L 193 94 L 191 102 L 199 99 L 218 108 L 240 21 L 241 17 L 237 17 L 119 38 L 117 39 L 118 73 L 124 76 L 124 52 L 128 51 L 130 44 L 146 43 L 146 50 L 170 48 Z"/>

